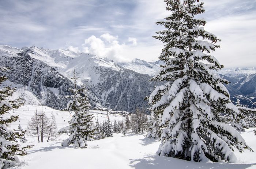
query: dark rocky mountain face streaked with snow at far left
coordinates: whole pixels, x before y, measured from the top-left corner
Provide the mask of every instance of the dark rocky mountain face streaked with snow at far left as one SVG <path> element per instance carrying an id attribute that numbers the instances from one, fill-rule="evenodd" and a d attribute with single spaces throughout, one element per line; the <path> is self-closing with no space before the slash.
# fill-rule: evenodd
<path id="1" fill-rule="evenodd" d="M 63 109 L 67 100 L 57 98 L 69 94 L 72 82 L 46 63 L 32 58 L 27 52 L 18 50 L 13 53 L 13 51 L 11 47 L 1 47 L 1 66 L 10 69 L 0 74 L 6 75 L 12 85 L 20 84 L 19 88 L 23 87 L 22 90 L 25 90 L 23 92 L 33 93 L 41 104 Z M 30 102 L 29 98 L 28 102 Z"/>

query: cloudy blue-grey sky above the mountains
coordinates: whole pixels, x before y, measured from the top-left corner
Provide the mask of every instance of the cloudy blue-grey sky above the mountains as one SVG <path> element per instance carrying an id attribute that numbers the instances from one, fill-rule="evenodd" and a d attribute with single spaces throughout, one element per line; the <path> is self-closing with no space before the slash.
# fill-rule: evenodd
<path id="1" fill-rule="evenodd" d="M 204 0 L 207 31 L 222 39 L 225 67 L 256 66 L 256 0 Z M 113 60 L 157 60 L 154 22 L 162 0 L 0 0 L 0 44 L 90 52 Z"/>

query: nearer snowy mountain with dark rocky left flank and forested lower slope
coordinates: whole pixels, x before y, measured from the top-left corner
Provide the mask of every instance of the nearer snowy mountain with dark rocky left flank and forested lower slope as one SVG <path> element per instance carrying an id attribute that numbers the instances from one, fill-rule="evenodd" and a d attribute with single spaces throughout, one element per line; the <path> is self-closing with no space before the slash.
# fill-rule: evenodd
<path id="1" fill-rule="evenodd" d="M 5 74 L 11 82 L 22 84 L 40 104 L 56 109 L 65 106 L 63 96 L 72 86 L 68 77 L 74 69 L 80 73 L 79 82 L 85 84 L 93 107 L 128 112 L 136 107 L 146 109 L 144 98 L 156 85 L 148 82 L 149 75 L 125 69 L 113 60 L 69 50 L 4 46 L 0 48 L 0 61 L 12 68 Z"/>

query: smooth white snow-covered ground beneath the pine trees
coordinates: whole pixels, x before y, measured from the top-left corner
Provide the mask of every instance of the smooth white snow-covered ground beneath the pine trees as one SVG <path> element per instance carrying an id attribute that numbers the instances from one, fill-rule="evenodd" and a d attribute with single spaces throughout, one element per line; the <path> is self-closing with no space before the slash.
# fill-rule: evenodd
<path id="1" fill-rule="evenodd" d="M 27 121 L 34 114 L 35 109 L 44 110 L 50 117 L 50 113 L 56 114 L 58 128 L 67 126 L 71 118 L 66 111 L 56 111 L 46 106 L 22 106 L 14 110 L 20 116 L 20 120 L 13 123 L 13 128 L 18 128 L 20 124 L 26 129 Z M 120 115 L 109 115 L 110 120 L 124 119 Z M 103 121 L 106 115 L 94 114 L 94 120 Z M 256 136 L 252 133 L 252 128 L 241 133 L 246 143 L 256 151 Z M 22 158 L 25 162 L 17 166 L 17 169 L 256 169 L 256 153 L 245 151 L 243 154 L 235 152 L 238 164 L 228 164 L 225 162 L 191 162 L 170 157 L 156 156 L 160 142 L 155 139 L 144 137 L 145 134 L 114 134 L 113 137 L 104 138 L 97 141 L 88 141 L 88 148 L 74 149 L 60 146 L 62 139 L 67 138 L 61 135 L 59 140 L 38 143 L 36 138 L 28 138 L 28 142 L 22 145 L 35 145 L 28 150 L 28 155 Z"/>

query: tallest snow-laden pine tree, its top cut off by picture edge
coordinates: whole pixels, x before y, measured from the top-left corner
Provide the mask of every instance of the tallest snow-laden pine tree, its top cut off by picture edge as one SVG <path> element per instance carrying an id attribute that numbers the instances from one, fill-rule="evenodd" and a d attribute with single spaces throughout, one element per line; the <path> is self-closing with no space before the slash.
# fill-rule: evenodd
<path id="1" fill-rule="evenodd" d="M 157 153 L 192 161 L 236 162 L 233 149 L 250 149 L 241 135 L 226 124 L 237 121 L 240 111 L 229 98 L 222 79 L 215 70 L 223 65 L 206 53 L 220 46 L 215 35 L 204 30 L 204 13 L 199 0 L 165 0 L 170 16 L 156 22 L 166 30 L 155 39 L 163 42 L 159 59 L 165 63 L 152 80 L 165 82 L 149 97 L 151 111 L 162 115 L 162 144 Z M 210 40 L 210 42 L 207 42 Z M 226 114 L 229 118 L 223 117 Z"/>

